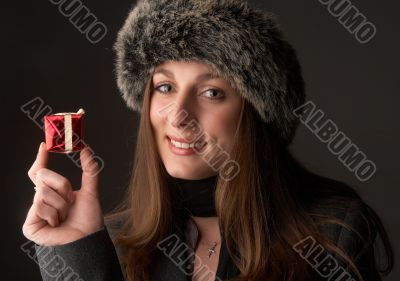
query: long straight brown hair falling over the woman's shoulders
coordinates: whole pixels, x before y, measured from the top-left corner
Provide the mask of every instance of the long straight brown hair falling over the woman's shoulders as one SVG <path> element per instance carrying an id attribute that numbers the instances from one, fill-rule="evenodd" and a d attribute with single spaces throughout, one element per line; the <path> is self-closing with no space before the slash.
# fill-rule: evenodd
<path id="1" fill-rule="evenodd" d="M 126 200 L 106 216 L 107 220 L 124 217 L 115 243 L 125 249 L 122 262 L 128 281 L 150 279 L 152 253 L 174 219 L 167 173 L 157 153 L 149 120 L 151 80 L 150 77 L 144 91 Z M 309 235 L 336 253 L 357 274 L 346 249 L 340 249 L 318 230 L 326 224 L 351 228 L 334 214 L 324 214 L 318 209 L 318 206 L 338 209 L 350 203 L 367 210 L 363 213 L 365 221 L 370 229 L 377 230 L 384 245 L 386 266 L 381 272 L 391 271 L 392 249 L 376 213 L 352 188 L 313 174 L 300 165 L 246 101 L 230 157 L 239 163 L 240 172 L 230 181 L 218 178 L 215 203 L 228 252 L 241 272 L 235 280 L 310 280 L 311 267 L 292 249 Z M 374 236 L 370 236 L 367 239 L 373 240 Z"/>

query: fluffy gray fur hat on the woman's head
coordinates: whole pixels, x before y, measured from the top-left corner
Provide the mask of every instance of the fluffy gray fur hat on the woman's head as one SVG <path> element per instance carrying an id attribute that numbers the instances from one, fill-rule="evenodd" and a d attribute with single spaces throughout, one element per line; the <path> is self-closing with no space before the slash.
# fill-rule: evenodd
<path id="1" fill-rule="evenodd" d="M 206 63 L 229 81 L 287 145 L 304 103 L 295 50 L 274 16 L 245 0 L 139 0 L 114 45 L 118 88 L 141 111 L 153 67 L 168 60 Z"/>

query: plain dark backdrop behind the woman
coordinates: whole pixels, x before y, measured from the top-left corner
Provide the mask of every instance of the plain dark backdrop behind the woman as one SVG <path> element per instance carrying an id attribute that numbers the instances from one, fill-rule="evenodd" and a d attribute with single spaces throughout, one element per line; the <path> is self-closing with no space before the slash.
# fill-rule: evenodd
<path id="1" fill-rule="evenodd" d="M 253 3 L 255 1 L 252 1 Z M 86 112 L 86 142 L 105 162 L 101 202 L 109 211 L 122 198 L 134 153 L 138 115 L 116 88 L 112 44 L 134 1 L 84 1 L 108 28 L 90 43 L 50 1 L 1 4 L 2 280 L 41 280 L 38 266 L 20 249 L 21 227 L 33 198 L 27 176 L 44 134 L 20 107 L 41 97 L 54 113 Z M 380 215 L 396 249 L 400 245 L 398 172 L 399 36 L 398 1 L 352 3 L 377 27 L 360 44 L 319 1 L 258 1 L 278 15 L 286 38 L 297 49 L 308 99 L 377 165 L 360 182 L 304 125 L 292 145 L 310 169 L 351 184 Z M 80 186 L 80 170 L 51 154 L 49 168 Z M 397 281 L 399 267 L 386 279 Z"/>

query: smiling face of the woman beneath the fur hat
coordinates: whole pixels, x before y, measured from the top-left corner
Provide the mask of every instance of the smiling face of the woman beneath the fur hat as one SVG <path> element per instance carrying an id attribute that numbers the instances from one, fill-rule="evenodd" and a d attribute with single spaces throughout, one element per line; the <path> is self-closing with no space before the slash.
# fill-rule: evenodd
<path id="1" fill-rule="evenodd" d="M 216 175 L 205 152 L 231 151 L 242 98 L 212 73 L 208 65 L 195 61 L 167 61 L 155 68 L 150 122 L 160 157 L 173 177 Z M 193 145 L 199 146 L 190 148 Z"/>

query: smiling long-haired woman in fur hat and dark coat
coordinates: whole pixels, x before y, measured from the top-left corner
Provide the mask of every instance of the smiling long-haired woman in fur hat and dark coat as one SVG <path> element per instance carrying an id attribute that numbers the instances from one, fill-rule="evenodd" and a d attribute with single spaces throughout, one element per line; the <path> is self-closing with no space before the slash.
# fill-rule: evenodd
<path id="1" fill-rule="evenodd" d="M 23 232 L 38 244 L 44 280 L 380 280 L 390 272 L 376 213 L 288 150 L 304 83 L 269 14 L 239 0 L 142 0 L 115 50 L 119 89 L 141 112 L 130 188 L 104 223 L 89 150 L 72 191 L 46 168 L 41 146 Z"/>

